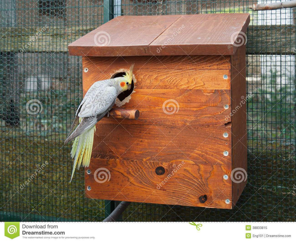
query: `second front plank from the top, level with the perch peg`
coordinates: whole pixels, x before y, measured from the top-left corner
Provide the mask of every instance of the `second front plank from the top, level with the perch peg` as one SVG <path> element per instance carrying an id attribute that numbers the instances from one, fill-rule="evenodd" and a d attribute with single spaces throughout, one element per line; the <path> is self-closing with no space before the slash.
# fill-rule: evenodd
<path id="1" fill-rule="evenodd" d="M 131 100 L 123 109 L 138 109 L 139 119 L 120 121 L 122 124 L 180 126 L 221 125 L 231 121 L 225 104 L 231 103 L 230 90 L 175 90 L 135 89 Z M 116 106 L 115 106 L 116 107 Z M 102 123 L 118 124 L 115 119 L 104 118 Z"/>

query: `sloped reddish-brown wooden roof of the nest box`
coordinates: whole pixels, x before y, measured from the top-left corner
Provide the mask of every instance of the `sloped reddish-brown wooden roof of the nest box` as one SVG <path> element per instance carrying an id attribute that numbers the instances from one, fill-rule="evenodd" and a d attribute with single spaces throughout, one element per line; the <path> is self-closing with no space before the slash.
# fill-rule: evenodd
<path id="1" fill-rule="evenodd" d="M 249 22 L 245 13 L 119 16 L 68 49 L 75 56 L 232 55 Z"/>

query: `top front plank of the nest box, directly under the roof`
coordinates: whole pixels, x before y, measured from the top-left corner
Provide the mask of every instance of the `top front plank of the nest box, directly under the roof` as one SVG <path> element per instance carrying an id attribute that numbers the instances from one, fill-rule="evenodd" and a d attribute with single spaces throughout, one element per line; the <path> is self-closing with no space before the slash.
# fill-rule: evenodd
<path id="1" fill-rule="evenodd" d="M 186 57 L 183 61 L 176 62 L 173 56 L 162 58 L 140 56 L 124 60 L 121 57 L 83 57 L 83 68 L 88 68 L 88 72 L 83 72 L 83 91 L 88 90 L 95 81 L 108 79 L 120 69 L 129 68 L 132 63 L 135 63 L 134 75 L 139 80 L 135 91 L 142 88 L 230 89 L 230 64 L 226 63 L 227 58 L 219 56 L 212 65 L 209 62 L 190 59 Z M 223 78 L 225 74 L 228 75 L 227 79 Z"/>

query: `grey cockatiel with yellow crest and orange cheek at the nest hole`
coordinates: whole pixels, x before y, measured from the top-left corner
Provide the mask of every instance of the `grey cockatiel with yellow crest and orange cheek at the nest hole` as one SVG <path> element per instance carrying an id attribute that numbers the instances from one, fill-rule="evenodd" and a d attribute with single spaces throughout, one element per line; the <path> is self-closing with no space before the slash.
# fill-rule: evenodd
<path id="1" fill-rule="evenodd" d="M 130 90 L 133 79 L 133 64 L 126 75 L 95 82 L 85 94 L 79 105 L 70 133 L 65 144 L 74 139 L 71 158 L 74 158 L 71 180 L 75 168 L 88 167 L 94 142 L 96 123 L 110 111 L 117 96 Z"/>

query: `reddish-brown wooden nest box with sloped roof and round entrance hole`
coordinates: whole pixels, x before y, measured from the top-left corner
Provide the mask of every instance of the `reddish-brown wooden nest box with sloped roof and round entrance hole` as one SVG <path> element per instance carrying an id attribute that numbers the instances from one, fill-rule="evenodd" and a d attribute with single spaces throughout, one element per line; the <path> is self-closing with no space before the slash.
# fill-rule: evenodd
<path id="1" fill-rule="evenodd" d="M 135 63 L 134 92 L 117 106 L 139 118 L 96 125 L 88 197 L 234 207 L 247 183 L 249 22 L 249 14 L 120 16 L 68 46 L 82 56 L 84 94 Z"/>

